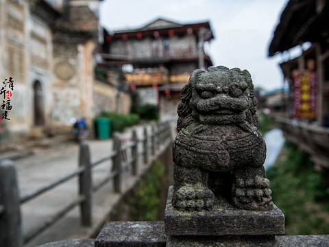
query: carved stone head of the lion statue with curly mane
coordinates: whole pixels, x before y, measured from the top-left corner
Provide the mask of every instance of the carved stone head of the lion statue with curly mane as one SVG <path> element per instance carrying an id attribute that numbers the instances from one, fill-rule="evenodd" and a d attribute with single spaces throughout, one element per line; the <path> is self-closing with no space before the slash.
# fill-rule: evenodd
<path id="1" fill-rule="evenodd" d="M 254 132 L 257 99 L 247 70 L 219 66 L 196 69 L 181 93 L 178 132 L 195 121 L 200 124 L 236 124 Z"/>

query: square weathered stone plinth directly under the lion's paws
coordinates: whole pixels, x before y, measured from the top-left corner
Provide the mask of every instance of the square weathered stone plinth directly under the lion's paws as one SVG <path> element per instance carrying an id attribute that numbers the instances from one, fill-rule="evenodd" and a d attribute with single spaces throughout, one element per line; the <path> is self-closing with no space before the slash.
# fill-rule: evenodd
<path id="1" fill-rule="evenodd" d="M 235 209 L 224 198 L 215 199 L 212 211 L 182 211 L 173 207 L 169 188 L 164 216 L 167 235 L 282 235 L 284 214 L 276 205 L 270 211 Z"/>

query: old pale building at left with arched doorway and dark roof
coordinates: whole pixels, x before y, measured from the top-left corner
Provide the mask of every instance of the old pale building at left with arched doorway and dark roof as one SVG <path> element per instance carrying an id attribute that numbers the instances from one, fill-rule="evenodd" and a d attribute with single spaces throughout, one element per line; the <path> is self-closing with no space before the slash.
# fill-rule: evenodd
<path id="1" fill-rule="evenodd" d="M 97 100 L 116 99 L 116 86 L 94 76 L 99 1 L 0 0 L 0 80 L 14 80 L 1 137 L 67 132 L 72 117 L 111 110 Z"/>

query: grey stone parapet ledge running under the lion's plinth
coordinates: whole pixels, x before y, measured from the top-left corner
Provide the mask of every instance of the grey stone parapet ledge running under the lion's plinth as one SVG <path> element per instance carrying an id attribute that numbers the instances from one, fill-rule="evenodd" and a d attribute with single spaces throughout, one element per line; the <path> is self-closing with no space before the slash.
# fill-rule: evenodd
<path id="1" fill-rule="evenodd" d="M 123 231 L 119 226 L 121 224 L 125 225 L 127 222 L 110 222 L 112 225 L 106 224 L 106 226 L 116 228 L 117 232 L 114 233 L 117 237 L 120 235 L 120 231 Z M 130 226 L 134 224 L 139 224 L 141 222 L 130 222 Z M 143 243 L 132 243 L 125 242 L 125 239 L 121 239 L 121 242 L 108 241 L 103 242 L 103 246 L 166 246 L 166 240 L 164 239 L 164 223 L 156 222 L 143 222 L 147 226 L 151 226 L 151 231 L 155 234 L 152 234 L 151 242 Z M 119 224 L 117 227 L 115 225 Z M 125 227 L 123 227 L 125 229 Z M 136 227 L 138 230 L 138 226 Z M 145 229 L 142 231 L 145 233 Z M 146 231 L 147 233 L 148 231 Z M 105 232 L 102 231 L 101 234 Z M 159 233 L 159 234 L 156 234 Z M 106 233 L 105 233 L 106 234 Z M 127 234 L 125 231 L 124 234 Z M 146 236 L 147 234 L 145 234 Z M 113 236 L 113 235 L 111 235 Z M 147 236 L 146 236 L 147 237 Z M 108 237 L 110 238 L 110 237 Z M 132 238 L 132 237 L 130 237 Z M 97 240 L 98 241 L 98 240 Z M 99 244 L 99 243 L 97 243 Z M 127 245 L 126 245 L 127 244 Z M 95 245 L 97 246 L 97 245 Z M 273 235 L 226 235 L 226 236 L 169 236 L 167 239 L 167 246 L 225 246 L 225 247 L 234 247 L 234 246 L 248 246 L 248 247 L 258 247 L 258 246 L 273 246 L 273 247 L 322 247 L 329 246 L 329 235 L 303 235 L 303 236 L 273 236 Z M 44 244 L 38 247 L 94 247 L 94 239 L 73 239 L 73 240 L 64 240 L 60 242 L 53 242 L 49 244 Z"/>

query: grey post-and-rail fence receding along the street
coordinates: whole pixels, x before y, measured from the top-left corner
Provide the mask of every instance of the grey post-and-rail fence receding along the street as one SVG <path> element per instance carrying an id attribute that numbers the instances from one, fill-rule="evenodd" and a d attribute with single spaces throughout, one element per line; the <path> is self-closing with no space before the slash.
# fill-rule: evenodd
<path id="1" fill-rule="evenodd" d="M 140 167 L 138 161 L 141 160 L 143 164 L 147 164 L 149 162 L 149 150 L 151 155 L 154 155 L 156 150 L 159 150 L 160 143 L 164 143 L 170 138 L 171 128 L 169 122 L 156 127 L 152 126 L 151 133 L 144 127 L 143 137 L 140 139 L 137 137 L 136 130 L 133 130 L 132 138 L 125 140 L 125 145 L 121 145 L 120 134 L 114 133 L 112 152 L 94 163 L 90 161 L 88 142 L 82 141 L 80 143 L 79 167 L 75 171 L 53 180 L 38 189 L 28 191 L 22 196 L 19 196 L 15 163 L 10 160 L 0 161 L 0 246 L 19 247 L 27 244 L 78 205 L 81 209 L 82 225 L 90 226 L 93 218 L 91 211 L 93 193 L 110 182 L 113 183 L 114 191 L 121 193 L 122 168 L 130 166 L 132 175 L 138 174 L 138 167 Z M 143 146 L 141 152 L 138 143 L 141 143 L 141 146 Z M 125 156 L 127 152 L 130 153 L 129 158 Z M 123 156 L 125 156 L 124 159 L 122 158 Z M 105 178 L 94 185 L 92 180 L 93 168 L 108 160 L 112 160 L 111 171 Z M 23 236 L 21 233 L 21 205 L 76 176 L 79 180 L 78 195 L 70 202 L 67 202 L 57 213 L 51 215 L 48 220 L 40 224 L 38 228 L 35 228 L 34 231 Z"/>

